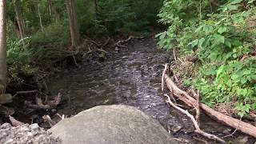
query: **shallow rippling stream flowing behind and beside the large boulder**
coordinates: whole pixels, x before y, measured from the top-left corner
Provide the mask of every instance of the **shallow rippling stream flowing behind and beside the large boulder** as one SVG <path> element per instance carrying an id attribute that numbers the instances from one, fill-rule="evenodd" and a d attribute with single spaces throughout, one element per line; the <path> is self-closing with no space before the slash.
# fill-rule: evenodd
<path id="1" fill-rule="evenodd" d="M 85 61 L 78 68 L 64 70 L 49 86 L 53 94 L 60 91 L 69 99 L 58 107 L 58 113 L 70 116 L 98 105 L 135 106 L 158 119 L 174 138 L 183 141 L 181 143 L 200 143 L 196 139 L 203 138 L 193 133 L 190 119 L 166 105 L 161 77 L 168 54 L 158 50 L 156 43 L 154 38 L 135 39 L 104 62 Z M 204 114 L 201 119 L 202 130 L 206 132 L 220 137 L 233 132 Z M 248 136 L 237 135 L 238 142 L 245 138 L 249 139 L 246 142 L 252 142 Z"/>

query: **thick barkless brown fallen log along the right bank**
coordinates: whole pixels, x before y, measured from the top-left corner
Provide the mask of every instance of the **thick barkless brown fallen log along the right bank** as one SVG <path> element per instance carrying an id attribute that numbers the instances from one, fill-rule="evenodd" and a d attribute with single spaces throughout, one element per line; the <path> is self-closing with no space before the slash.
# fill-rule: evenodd
<path id="1" fill-rule="evenodd" d="M 185 91 L 180 90 L 167 74 L 165 74 L 165 82 L 166 86 L 170 89 L 170 91 L 173 92 L 175 97 L 180 99 L 182 102 L 185 102 L 190 107 L 197 106 L 197 101 Z M 242 122 L 241 120 L 222 114 L 216 110 L 211 109 L 209 106 L 206 106 L 203 103 L 200 103 L 200 107 L 202 110 L 205 111 L 208 116 L 210 116 L 210 118 L 214 118 L 218 122 L 222 122 L 226 126 L 233 127 L 234 129 L 242 131 L 243 133 L 249 134 L 256 138 L 256 127 L 251 125 L 250 123 Z"/>

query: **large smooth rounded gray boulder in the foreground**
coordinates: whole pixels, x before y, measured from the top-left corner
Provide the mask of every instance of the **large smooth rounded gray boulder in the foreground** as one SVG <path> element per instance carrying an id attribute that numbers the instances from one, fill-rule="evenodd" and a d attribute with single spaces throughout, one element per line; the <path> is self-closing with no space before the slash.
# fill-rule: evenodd
<path id="1" fill-rule="evenodd" d="M 50 129 L 68 144 L 176 144 L 154 118 L 132 106 L 96 106 Z"/>

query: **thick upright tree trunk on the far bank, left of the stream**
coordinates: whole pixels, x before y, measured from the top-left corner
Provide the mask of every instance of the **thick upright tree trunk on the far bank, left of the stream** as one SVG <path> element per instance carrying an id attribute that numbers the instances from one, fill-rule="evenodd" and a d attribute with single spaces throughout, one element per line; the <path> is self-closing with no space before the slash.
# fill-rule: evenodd
<path id="1" fill-rule="evenodd" d="M 70 36 L 72 47 L 77 47 L 80 42 L 80 35 L 78 29 L 78 17 L 74 0 L 66 0 L 66 10 L 70 22 Z"/>

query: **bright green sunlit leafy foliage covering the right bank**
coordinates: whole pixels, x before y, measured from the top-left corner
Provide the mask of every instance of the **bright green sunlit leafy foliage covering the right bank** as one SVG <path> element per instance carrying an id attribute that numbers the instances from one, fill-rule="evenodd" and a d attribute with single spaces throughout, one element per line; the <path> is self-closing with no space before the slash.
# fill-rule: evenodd
<path id="1" fill-rule="evenodd" d="M 203 102 L 209 106 L 236 102 L 241 115 L 249 113 L 256 110 L 256 59 L 251 56 L 256 37 L 254 1 L 220 2 L 215 10 L 207 2 L 165 1 L 158 16 L 170 27 L 157 35 L 158 45 L 198 55 L 201 66 L 193 85 L 201 90 Z"/>

